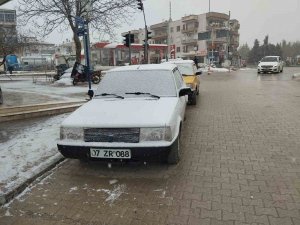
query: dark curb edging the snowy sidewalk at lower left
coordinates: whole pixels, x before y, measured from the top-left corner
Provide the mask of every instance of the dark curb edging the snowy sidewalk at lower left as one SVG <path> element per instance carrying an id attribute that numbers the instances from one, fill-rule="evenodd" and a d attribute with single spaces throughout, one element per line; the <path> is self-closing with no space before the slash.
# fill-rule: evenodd
<path id="1" fill-rule="evenodd" d="M 31 178 L 28 178 L 26 181 L 18 185 L 17 187 L 13 188 L 13 190 L 9 191 L 8 193 L 4 193 L 0 195 L 0 207 L 9 203 L 14 197 L 21 194 L 27 187 L 29 187 L 34 181 L 42 177 L 44 174 L 55 168 L 56 165 L 63 162 L 65 160 L 64 157 L 55 160 L 53 163 L 50 163 L 46 168 L 42 169 L 36 175 Z"/>

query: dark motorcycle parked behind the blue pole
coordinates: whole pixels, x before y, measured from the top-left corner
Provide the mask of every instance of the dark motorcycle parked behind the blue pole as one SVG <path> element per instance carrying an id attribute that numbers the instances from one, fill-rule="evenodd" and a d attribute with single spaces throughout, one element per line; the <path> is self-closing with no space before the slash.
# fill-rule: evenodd
<path id="1" fill-rule="evenodd" d="M 71 77 L 73 78 L 74 86 L 78 82 L 87 82 L 88 76 L 87 76 L 86 66 L 79 63 L 75 63 Z M 98 84 L 100 80 L 101 80 L 101 71 L 91 71 L 91 81 L 94 84 Z"/>

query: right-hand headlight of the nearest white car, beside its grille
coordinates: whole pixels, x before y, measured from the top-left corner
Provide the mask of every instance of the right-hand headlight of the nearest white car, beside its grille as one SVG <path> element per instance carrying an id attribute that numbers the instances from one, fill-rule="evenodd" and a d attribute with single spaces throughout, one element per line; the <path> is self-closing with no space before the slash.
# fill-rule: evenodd
<path id="1" fill-rule="evenodd" d="M 171 141 L 170 127 L 147 127 L 140 129 L 140 142 L 143 141 Z"/>

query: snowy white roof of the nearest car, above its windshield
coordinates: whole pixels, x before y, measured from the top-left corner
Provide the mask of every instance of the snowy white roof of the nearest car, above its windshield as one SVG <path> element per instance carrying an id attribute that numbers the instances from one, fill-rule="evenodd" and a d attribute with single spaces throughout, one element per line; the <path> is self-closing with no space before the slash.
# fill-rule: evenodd
<path id="1" fill-rule="evenodd" d="M 142 64 L 142 65 L 132 65 L 132 66 L 122 66 L 115 69 L 109 70 L 109 72 L 114 71 L 132 71 L 132 70 L 169 70 L 172 71 L 176 65 L 174 64 Z"/>

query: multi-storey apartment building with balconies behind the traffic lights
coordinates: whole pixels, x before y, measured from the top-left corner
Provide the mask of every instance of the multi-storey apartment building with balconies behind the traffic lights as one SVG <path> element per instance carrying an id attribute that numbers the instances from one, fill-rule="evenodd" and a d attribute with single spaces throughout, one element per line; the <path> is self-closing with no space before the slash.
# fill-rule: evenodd
<path id="1" fill-rule="evenodd" d="M 180 20 L 151 25 L 150 43 L 168 44 L 171 58 L 192 59 L 196 56 L 200 63 L 221 64 L 230 60 L 235 65 L 239 61 L 239 28 L 239 22 L 224 13 L 187 15 Z M 138 37 L 135 43 L 143 43 L 144 29 L 131 33 Z"/>

